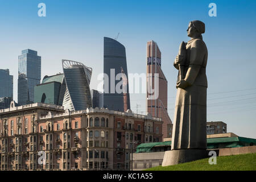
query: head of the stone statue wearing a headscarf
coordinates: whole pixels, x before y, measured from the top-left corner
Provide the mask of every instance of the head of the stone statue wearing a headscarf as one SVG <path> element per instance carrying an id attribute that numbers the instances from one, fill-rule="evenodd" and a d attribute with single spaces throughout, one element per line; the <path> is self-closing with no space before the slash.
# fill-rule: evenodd
<path id="1" fill-rule="evenodd" d="M 191 38 L 199 37 L 205 32 L 205 24 L 200 20 L 193 20 L 189 22 L 187 32 Z"/>

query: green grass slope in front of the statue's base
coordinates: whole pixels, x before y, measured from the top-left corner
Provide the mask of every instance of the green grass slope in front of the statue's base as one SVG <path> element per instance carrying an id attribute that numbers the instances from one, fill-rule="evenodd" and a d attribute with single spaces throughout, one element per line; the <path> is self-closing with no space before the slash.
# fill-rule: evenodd
<path id="1" fill-rule="evenodd" d="M 217 164 L 209 164 L 209 158 L 173 166 L 158 166 L 146 171 L 256 171 L 256 153 L 218 156 Z"/>

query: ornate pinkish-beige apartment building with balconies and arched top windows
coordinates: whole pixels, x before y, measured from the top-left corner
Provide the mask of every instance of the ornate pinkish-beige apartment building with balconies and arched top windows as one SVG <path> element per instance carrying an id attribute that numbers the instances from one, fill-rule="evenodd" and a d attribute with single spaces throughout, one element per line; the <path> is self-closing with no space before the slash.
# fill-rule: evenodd
<path id="1" fill-rule="evenodd" d="M 12 102 L 0 110 L 0 169 L 129 170 L 132 148 L 162 141 L 162 123 L 131 110 Z"/>

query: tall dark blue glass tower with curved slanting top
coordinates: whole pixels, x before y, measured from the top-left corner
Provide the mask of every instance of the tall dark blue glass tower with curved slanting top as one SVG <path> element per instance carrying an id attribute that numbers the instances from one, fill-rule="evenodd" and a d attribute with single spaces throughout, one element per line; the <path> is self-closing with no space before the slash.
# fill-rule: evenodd
<path id="1" fill-rule="evenodd" d="M 108 79 L 104 78 L 104 107 L 111 110 L 124 111 L 123 92 L 117 93 L 115 86 L 120 80 L 115 80 L 115 76 L 125 73 L 127 79 L 127 64 L 125 47 L 111 38 L 104 38 L 104 73 Z M 127 109 L 130 109 L 129 85 L 127 84 Z"/>

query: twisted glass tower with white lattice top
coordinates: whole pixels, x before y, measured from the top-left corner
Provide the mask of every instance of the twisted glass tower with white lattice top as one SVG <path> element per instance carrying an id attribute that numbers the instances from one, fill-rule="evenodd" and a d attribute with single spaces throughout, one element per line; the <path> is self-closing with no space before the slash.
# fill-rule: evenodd
<path id="1" fill-rule="evenodd" d="M 63 100 L 65 109 L 73 111 L 92 107 L 89 86 L 92 68 L 71 60 L 62 60 L 62 65 L 67 85 Z"/>

